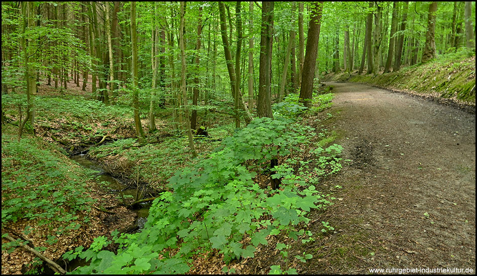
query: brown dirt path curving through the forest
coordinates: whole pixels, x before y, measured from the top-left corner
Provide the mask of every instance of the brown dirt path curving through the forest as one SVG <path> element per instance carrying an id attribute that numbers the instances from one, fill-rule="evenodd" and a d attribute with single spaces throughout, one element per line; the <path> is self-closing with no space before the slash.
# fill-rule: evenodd
<path id="1" fill-rule="evenodd" d="M 336 143 L 351 161 L 328 184 L 342 186 L 324 214 L 335 234 L 300 273 L 475 271 L 475 115 L 367 85 L 329 84 Z"/>

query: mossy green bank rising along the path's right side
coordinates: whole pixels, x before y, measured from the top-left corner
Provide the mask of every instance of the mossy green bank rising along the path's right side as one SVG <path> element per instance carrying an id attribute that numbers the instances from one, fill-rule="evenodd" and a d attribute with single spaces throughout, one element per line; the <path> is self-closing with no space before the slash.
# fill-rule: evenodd
<path id="1" fill-rule="evenodd" d="M 372 75 L 330 74 L 326 80 L 366 83 L 426 97 L 450 99 L 475 106 L 475 53 L 450 53 L 427 63 L 403 67 L 396 73 Z"/>

